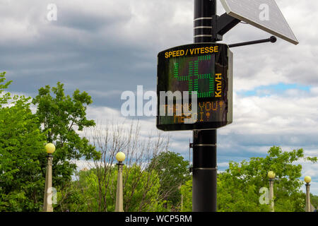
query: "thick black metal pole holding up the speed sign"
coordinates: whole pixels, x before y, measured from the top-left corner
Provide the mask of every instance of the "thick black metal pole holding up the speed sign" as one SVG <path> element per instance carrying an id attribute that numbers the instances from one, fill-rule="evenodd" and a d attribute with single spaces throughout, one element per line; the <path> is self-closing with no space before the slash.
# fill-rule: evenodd
<path id="1" fill-rule="evenodd" d="M 216 0 L 194 0 L 194 43 L 216 41 L 216 21 L 212 18 L 216 18 Z M 216 129 L 193 131 L 194 212 L 216 212 L 216 135 Z"/>

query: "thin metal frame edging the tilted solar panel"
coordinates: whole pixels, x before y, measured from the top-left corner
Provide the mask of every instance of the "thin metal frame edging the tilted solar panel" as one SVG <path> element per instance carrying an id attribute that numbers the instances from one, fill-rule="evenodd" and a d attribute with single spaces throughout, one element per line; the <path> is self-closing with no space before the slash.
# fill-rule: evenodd
<path id="1" fill-rule="evenodd" d="M 246 15 L 240 15 L 239 12 L 232 11 L 232 9 L 230 8 L 230 5 L 228 4 L 228 0 L 220 0 L 220 1 L 221 1 L 222 5 L 223 5 L 223 8 L 225 8 L 226 13 L 228 13 L 229 16 L 232 16 L 232 17 L 237 18 L 239 20 L 245 21 L 246 23 L 249 23 L 250 25 L 254 25 L 255 27 L 257 27 L 257 28 L 259 28 L 261 30 L 269 32 L 272 35 L 276 35 L 277 37 L 281 37 L 283 40 L 286 40 L 286 41 L 291 42 L 293 44 L 298 44 L 299 43 L 297 38 L 295 37 L 295 35 L 293 33 L 293 30 L 291 30 L 290 26 L 288 25 L 287 21 L 285 20 L 285 17 L 283 16 L 283 13 L 278 8 L 275 0 L 267 0 L 267 1 L 273 1 L 273 3 L 275 3 L 275 5 L 277 6 L 278 12 L 281 14 L 283 20 L 285 21 L 287 27 L 290 30 L 290 35 L 292 35 L 294 38 L 288 37 L 287 35 L 283 35 L 283 33 L 279 32 L 279 29 L 278 30 L 273 30 L 271 28 L 268 28 L 268 26 L 266 26 L 266 25 L 262 25 L 261 23 L 259 23 L 257 21 L 254 21 L 254 20 L 251 20 L 251 19 L 247 18 Z M 242 0 L 237 0 L 237 1 L 240 1 L 240 4 L 242 4 L 242 2 L 243 2 Z M 266 1 L 266 0 L 262 0 L 262 1 Z M 266 2 L 264 2 L 264 4 L 265 3 Z M 271 10 L 273 10 L 273 8 L 271 8 Z"/>

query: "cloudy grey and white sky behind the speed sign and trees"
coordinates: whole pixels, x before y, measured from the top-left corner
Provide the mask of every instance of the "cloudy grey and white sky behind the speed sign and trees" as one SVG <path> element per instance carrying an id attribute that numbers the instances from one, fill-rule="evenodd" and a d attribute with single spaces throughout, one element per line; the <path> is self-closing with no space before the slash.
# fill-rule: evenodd
<path id="1" fill-rule="evenodd" d="M 233 48 L 233 123 L 218 129 L 218 166 L 264 157 L 273 145 L 303 148 L 318 156 L 318 2 L 276 0 L 300 44 L 278 39 Z M 49 4 L 57 20 L 48 20 Z M 225 11 L 218 1 L 218 14 Z M 125 90 L 156 89 L 156 57 L 193 42 L 193 0 L 0 0 L 0 71 L 13 80 L 12 93 L 35 97 L 44 85 L 65 84 L 93 97 L 91 119 L 125 118 Z M 240 23 L 227 44 L 269 37 Z M 142 119 L 144 134 L 155 131 Z M 129 119 L 126 119 L 129 121 Z M 189 159 L 191 131 L 171 132 L 171 150 Z M 300 162 L 318 195 L 318 164 Z"/>

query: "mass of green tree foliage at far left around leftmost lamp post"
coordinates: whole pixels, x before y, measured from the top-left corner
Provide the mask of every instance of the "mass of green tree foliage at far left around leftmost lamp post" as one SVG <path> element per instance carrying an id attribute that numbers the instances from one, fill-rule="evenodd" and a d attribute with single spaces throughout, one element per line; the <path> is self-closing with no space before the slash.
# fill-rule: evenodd
<path id="1" fill-rule="evenodd" d="M 37 107 L 33 114 L 30 97 L 6 92 L 11 82 L 0 73 L 0 211 L 39 211 L 47 166 L 45 143 L 57 147 L 53 163 L 57 190 L 71 182 L 74 159 L 99 157 L 95 147 L 77 133 L 95 125 L 86 119 L 86 107 L 92 100 L 79 90 L 73 97 L 65 96 L 61 83 L 52 89 L 47 85 L 32 100 Z"/>

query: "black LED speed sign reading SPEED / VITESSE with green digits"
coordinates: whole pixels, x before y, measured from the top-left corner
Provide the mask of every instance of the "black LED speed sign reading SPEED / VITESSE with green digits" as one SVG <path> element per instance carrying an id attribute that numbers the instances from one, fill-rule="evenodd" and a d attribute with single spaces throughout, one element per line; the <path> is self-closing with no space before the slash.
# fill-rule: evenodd
<path id="1" fill-rule="evenodd" d="M 188 44 L 160 52 L 157 95 L 157 127 L 163 131 L 217 129 L 230 124 L 232 52 L 228 45 Z"/>

